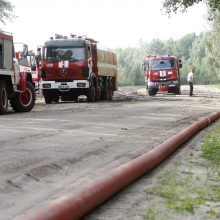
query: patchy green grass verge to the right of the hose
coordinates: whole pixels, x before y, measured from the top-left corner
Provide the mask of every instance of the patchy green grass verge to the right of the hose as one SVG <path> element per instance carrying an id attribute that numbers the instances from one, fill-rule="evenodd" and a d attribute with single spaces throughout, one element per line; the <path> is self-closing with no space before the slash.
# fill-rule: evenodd
<path id="1" fill-rule="evenodd" d="M 197 157 L 197 158 L 196 158 Z M 198 160 L 199 157 L 199 160 Z M 196 162 L 195 161 L 199 161 Z M 183 164 L 184 163 L 184 166 Z M 220 126 L 207 135 L 199 153 L 165 170 L 159 183 L 147 193 L 157 198 L 145 219 L 219 219 L 220 218 Z M 184 169 L 183 169 L 184 167 Z M 157 212 L 160 203 L 160 212 Z M 164 216 L 166 213 L 166 217 Z"/>

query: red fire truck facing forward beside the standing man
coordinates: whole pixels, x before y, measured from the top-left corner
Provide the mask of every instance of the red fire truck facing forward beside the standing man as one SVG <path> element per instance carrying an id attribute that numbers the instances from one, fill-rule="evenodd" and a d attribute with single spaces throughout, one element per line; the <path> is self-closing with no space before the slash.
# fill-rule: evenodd
<path id="1" fill-rule="evenodd" d="M 158 91 L 180 94 L 181 60 L 175 56 L 148 56 L 143 63 L 145 82 L 150 96 Z"/>

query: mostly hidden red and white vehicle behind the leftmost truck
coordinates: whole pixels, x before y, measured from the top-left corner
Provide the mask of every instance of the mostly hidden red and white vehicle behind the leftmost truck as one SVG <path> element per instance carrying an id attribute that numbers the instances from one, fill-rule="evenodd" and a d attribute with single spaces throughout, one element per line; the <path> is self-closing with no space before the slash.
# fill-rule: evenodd
<path id="1" fill-rule="evenodd" d="M 16 58 L 19 59 L 22 56 L 22 51 L 16 52 Z M 32 80 L 34 83 L 35 93 L 40 93 L 40 87 L 41 87 L 41 77 L 40 77 L 40 67 L 37 60 L 37 55 L 34 53 L 34 51 L 30 50 L 27 54 L 27 60 L 29 64 L 29 71 L 32 75 Z"/>

